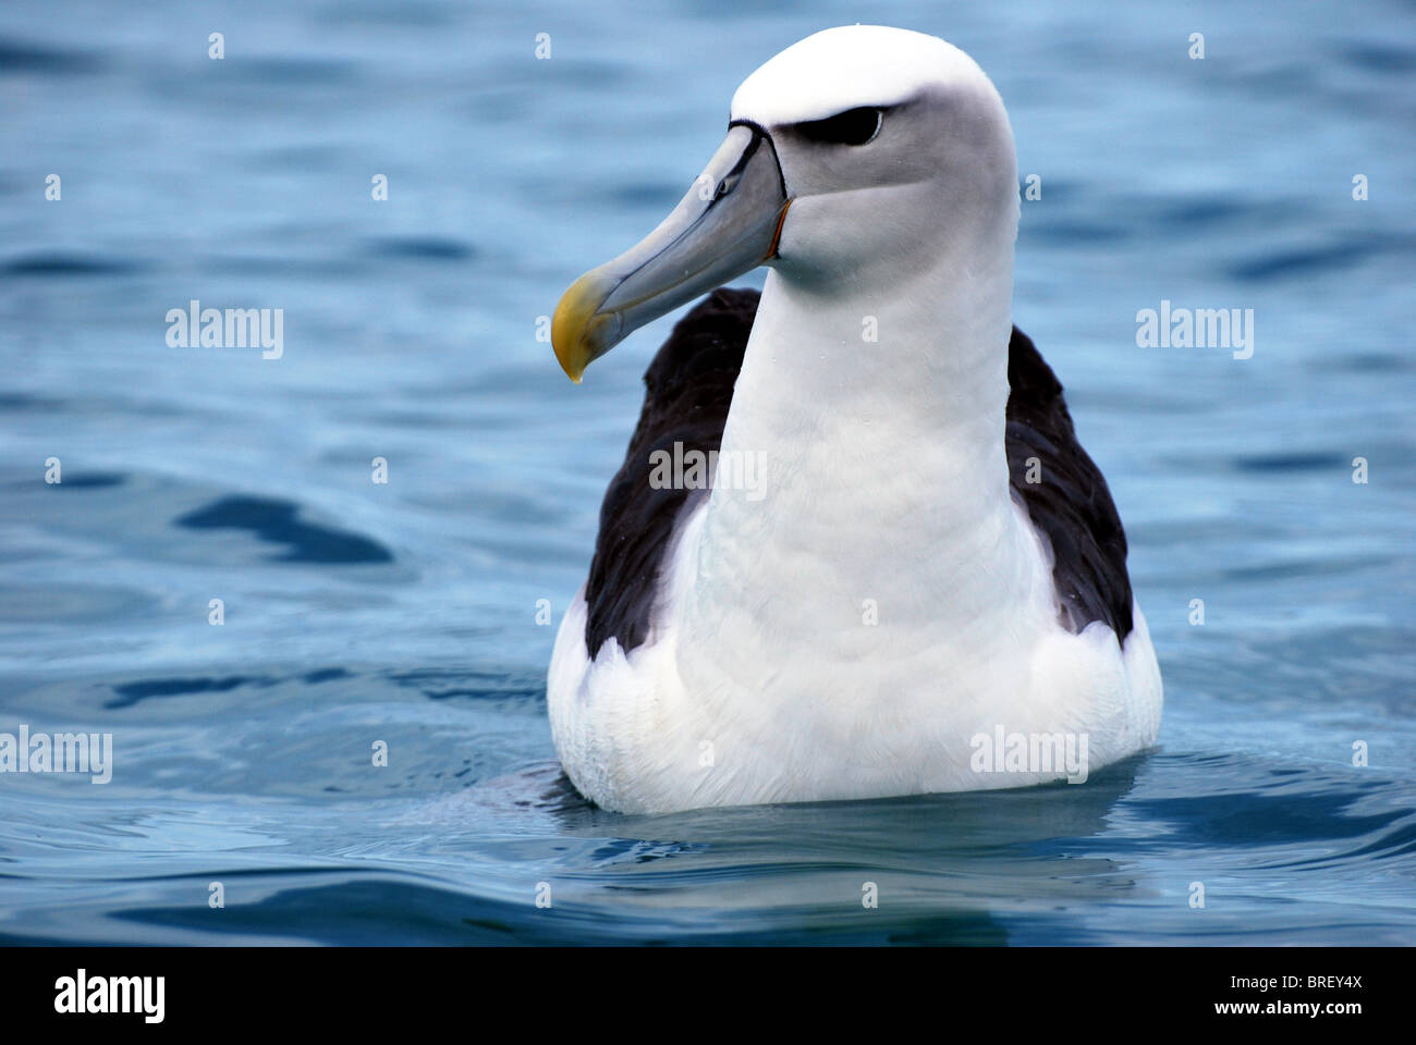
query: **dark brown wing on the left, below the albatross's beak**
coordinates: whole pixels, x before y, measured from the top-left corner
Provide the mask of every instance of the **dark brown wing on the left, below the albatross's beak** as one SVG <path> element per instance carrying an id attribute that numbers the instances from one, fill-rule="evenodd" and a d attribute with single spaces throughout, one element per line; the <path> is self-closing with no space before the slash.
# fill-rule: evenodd
<path id="1" fill-rule="evenodd" d="M 624 463 L 600 506 L 600 534 L 585 585 L 589 609 L 585 649 L 590 658 L 613 636 L 626 653 L 649 633 L 660 561 L 691 490 L 649 484 L 654 450 L 701 450 L 722 445 L 732 387 L 742 370 L 756 290 L 719 287 L 674 327 L 644 372 L 644 408 Z"/>

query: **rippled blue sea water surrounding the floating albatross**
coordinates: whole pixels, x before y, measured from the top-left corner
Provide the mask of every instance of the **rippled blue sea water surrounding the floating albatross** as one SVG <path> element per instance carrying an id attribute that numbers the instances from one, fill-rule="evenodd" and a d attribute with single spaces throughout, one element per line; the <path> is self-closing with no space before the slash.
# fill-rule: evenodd
<path id="1" fill-rule="evenodd" d="M 583 387 L 538 319 L 746 74 L 854 21 L 1010 106 L 1015 317 L 1126 522 L 1161 743 L 1075 787 L 605 813 L 559 779 L 538 600 L 671 319 Z M 0 940 L 1416 942 L 1413 130 L 1409 3 L 8 0 L 0 732 L 112 733 L 113 770 L 0 776 Z M 194 299 L 282 309 L 282 358 L 170 347 Z M 1163 300 L 1252 309 L 1252 358 L 1137 347 Z"/>

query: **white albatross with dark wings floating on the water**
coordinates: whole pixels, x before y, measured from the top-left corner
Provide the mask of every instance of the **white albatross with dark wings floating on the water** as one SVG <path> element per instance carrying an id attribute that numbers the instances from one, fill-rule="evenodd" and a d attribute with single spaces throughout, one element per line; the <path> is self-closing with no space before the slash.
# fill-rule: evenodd
<path id="1" fill-rule="evenodd" d="M 585 797 L 1017 787 L 1075 780 L 1063 742 L 1093 772 L 1155 742 L 1126 534 L 1012 324 L 1018 211 L 1008 116 L 969 55 L 831 28 L 748 76 L 678 207 L 565 292 L 551 340 L 576 382 L 709 295 L 644 375 L 551 657 Z M 721 286 L 760 265 L 760 297 Z M 656 474 L 714 450 L 718 481 Z M 722 481 L 745 459 L 759 484 Z"/>

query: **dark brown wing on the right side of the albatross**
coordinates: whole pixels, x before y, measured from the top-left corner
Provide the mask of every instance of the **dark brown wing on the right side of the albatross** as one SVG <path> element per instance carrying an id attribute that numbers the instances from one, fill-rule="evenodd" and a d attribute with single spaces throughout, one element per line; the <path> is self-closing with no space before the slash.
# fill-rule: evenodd
<path id="1" fill-rule="evenodd" d="M 1080 632 L 1104 620 L 1131 633 L 1126 531 L 1102 470 L 1076 440 L 1062 382 L 1017 327 L 1008 341 L 1008 476 L 1028 517 L 1052 542 L 1062 623 Z M 1029 459 L 1037 459 L 1035 466 Z M 1029 466 L 1037 483 L 1028 481 Z"/>

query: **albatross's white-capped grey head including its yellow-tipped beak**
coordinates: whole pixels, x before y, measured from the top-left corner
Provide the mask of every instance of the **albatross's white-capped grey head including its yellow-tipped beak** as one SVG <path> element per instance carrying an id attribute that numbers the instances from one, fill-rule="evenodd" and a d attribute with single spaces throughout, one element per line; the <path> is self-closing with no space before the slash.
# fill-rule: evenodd
<path id="1" fill-rule="evenodd" d="M 824 292 L 889 286 L 981 236 L 1011 244 L 1017 210 L 1008 116 L 969 55 L 908 30 L 824 30 L 743 81 L 704 173 L 571 285 L 551 341 L 579 382 L 633 330 L 759 265 Z"/>

